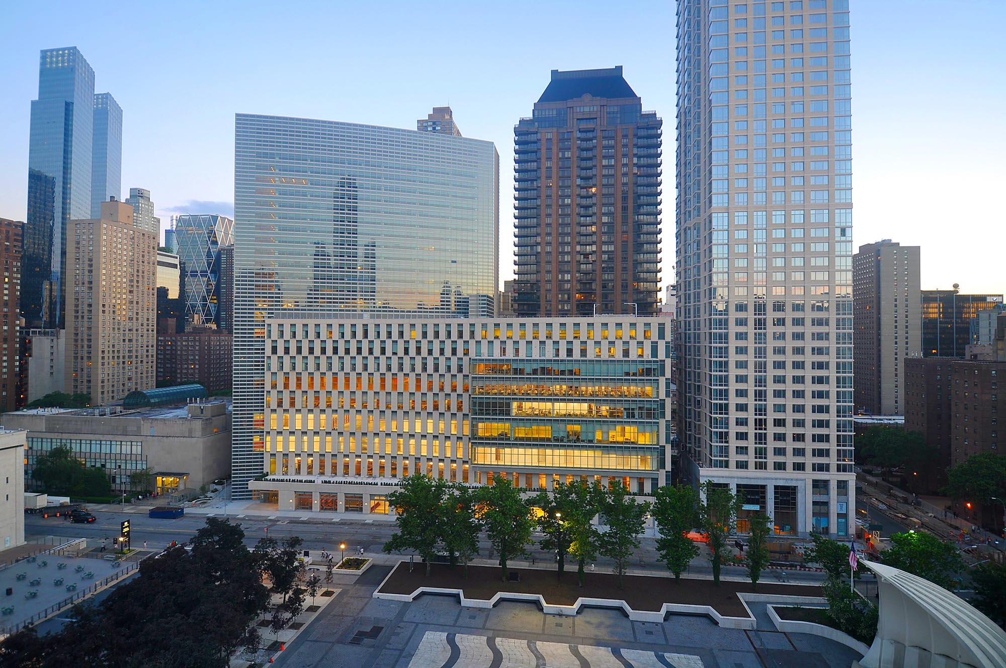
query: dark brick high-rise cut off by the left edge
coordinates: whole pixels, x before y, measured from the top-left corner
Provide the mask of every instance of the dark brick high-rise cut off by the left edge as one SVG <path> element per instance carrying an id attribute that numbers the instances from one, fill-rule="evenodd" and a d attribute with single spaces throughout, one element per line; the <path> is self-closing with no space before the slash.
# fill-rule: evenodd
<path id="1" fill-rule="evenodd" d="M 3 333 L 0 335 L 0 408 L 16 410 L 24 401 L 21 378 L 20 314 L 21 243 L 24 223 L 0 218 L 0 266 L 3 267 Z"/>

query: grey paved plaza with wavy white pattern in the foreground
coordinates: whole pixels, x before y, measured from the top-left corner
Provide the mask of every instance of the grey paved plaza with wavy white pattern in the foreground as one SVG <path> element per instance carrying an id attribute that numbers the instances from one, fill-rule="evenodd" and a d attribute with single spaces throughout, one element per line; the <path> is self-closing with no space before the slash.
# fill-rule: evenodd
<path id="1" fill-rule="evenodd" d="M 411 603 L 373 599 L 389 566 L 352 581 L 276 659 L 286 668 L 849 668 L 860 658 L 817 636 L 776 631 L 766 604 L 758 629 L 723 629 L 699 616 L 632 622 L 621 611 L 584 609 L 574 617 L 503 602 L 462 608 L 456 597 Z"/>

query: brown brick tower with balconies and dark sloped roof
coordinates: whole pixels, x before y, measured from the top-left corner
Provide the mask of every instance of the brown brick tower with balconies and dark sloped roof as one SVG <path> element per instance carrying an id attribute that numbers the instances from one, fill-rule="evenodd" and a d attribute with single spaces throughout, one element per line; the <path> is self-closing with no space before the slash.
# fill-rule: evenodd
<path id="1" fill-rule="evenodd" d="M 658 312 L 661 125 L 621 65 L 552 70 L 514 128 L 519 315 Z"/>

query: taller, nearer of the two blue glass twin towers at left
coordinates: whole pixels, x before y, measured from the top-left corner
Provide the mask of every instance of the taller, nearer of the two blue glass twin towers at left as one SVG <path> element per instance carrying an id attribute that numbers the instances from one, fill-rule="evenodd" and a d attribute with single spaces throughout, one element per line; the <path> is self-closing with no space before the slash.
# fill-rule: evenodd
<path id="1" fill-rule="evenodd" d="M 45 49 L 31 102 L 28 215 L 21 314 L 29 328 L 61 327 L 66 223 L 91 218 L 95 70 L 75 46 Z"/>

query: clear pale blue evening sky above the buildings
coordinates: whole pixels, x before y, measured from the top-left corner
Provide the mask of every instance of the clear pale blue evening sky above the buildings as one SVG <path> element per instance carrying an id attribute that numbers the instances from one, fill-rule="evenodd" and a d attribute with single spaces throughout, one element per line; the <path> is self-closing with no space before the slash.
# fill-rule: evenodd
<path id="1" fill-rule="evenodd" d="M 923 288 L 1006 291 L 1006 0 L 853 0 L 854 241 L 923 246 Z M 125 115 L 123 196 L 229 213 L 235 112 L 414 128 L 450 102 L 500 153 L 513 272 L 513 125 L 549 70 L 625 66 L 664 119 L 663 282 L 674 262 L 674 4 L 5 3 L 0 216 L 23 219 L 38 51 L 77 46 Z"/>

